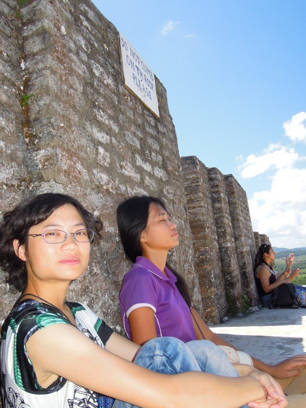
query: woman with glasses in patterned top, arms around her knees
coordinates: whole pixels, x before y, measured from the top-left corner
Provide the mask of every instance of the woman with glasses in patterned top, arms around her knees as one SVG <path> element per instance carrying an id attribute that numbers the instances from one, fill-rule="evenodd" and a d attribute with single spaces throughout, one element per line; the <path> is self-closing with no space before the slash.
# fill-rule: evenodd
<path id="1" fill-rule="evenodd" d="M 3 408 L 236 408 L 249 401 L 255 408 L 287 406 L 266 374 L 247 366 L 241 377 L 233 368 L 236 378 L 200 372 L 180 340 L 140 347 L 85 304 L 66 301 L 101 227 L 79 201 L 63 194 L 35 196 L 4 214 L 0 265 L 21 296 L 2 328 Z M 214 365 L 207 359 L 207 367 Z"/>

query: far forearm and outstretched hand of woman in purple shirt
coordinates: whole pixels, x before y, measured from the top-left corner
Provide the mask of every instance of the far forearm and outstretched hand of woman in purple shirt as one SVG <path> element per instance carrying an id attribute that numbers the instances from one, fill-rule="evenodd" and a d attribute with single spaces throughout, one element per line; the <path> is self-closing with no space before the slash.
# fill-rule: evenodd
<path id="1" fill-rule="evenodd" d="M 228 343 L 227 341 L 223 340 L 217 334 L 215 334 L 205 322 L 201 319 L 200 315 L 197 313 L 195 309 L 191 309 L 192 314 L 195 317 L 200 329 L 207 340 L 215 343 L 217 346 L 228 346 L 234 348 L 234 350 L 239 350 L 239 348 L 235 347 L 233 344 Z M 197 339 L 202 339 L 202 336 L 194 323 L 194 329 L 197 336 Z M 262 362 L 254 357 L 252 357 L 252 361 L 254 367 L 260 371 L 264 371 L 270 375 L 273 375 L 276 378 L 289 378 L 293 377 L 300 373 L 300 369 L 296 368 L 298 366 L 306 366 L 306 354 L 305 355 L 296 355 L 288 360 L 284 360 L 278 364 L 273 366 Z"/>

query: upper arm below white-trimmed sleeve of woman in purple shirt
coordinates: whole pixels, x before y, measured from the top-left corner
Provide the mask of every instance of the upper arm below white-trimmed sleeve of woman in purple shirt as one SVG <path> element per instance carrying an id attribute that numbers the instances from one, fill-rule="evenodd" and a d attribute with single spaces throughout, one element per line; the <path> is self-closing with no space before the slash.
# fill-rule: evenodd
<path id="1" fill-rule="evenodd" d="M 129 315 L 129 324 L 134 343 L 143 345 L 157 337 L 154 310 L 149 307 L 133 310 Z"/>

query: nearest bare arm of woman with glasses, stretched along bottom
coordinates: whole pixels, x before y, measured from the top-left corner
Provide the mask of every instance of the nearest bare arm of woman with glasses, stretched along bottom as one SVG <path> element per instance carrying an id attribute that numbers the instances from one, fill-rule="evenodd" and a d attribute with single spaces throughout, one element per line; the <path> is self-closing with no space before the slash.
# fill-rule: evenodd
<path id="1" fill-rule="evenodd" d="M 236 408 L 249 401 L 266 400 L 256 378 L 202 372 L 158 374 L 102 349 L 70 325 L 40 329 L 28 340 L 27 350 L 40 384 L 45 375 L 53 373 L 143 408 L 183 408 L 190 405 L 190 399 L 193 406 L 202 408 Z"/>

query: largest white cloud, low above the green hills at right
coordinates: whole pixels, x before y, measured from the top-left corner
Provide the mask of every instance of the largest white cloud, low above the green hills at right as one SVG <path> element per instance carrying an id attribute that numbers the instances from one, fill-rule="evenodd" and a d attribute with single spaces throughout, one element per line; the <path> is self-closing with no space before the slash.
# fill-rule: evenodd
<path id="1" fill-rule="evenodd" d="M 254 231 L 272 245 L 294 248 L 306 243 L 306 169 L 281 168 L 269 191 L 254 193 L 249 208 Z"/>

